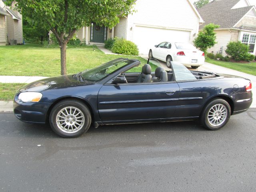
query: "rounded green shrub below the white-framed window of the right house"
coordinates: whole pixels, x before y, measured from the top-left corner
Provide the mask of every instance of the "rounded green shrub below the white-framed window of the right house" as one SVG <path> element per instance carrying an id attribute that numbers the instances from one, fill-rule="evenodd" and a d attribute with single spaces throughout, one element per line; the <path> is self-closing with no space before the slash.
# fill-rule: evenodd
<path id="1" fill-rule="evenodd" d="M 242 42 L 229 42 L 226 53 L 230 55 L 235 61 L 250 60 L 249 47 Z"/>

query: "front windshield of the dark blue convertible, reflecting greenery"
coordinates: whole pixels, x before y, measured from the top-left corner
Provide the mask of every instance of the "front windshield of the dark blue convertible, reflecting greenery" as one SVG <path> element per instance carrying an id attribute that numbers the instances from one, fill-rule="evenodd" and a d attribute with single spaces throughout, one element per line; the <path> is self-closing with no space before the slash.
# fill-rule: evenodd
<path id="1" fill-rule="evenodd" d="M 133 60 L 119 58 L 110 62 L 104 63 L 96 68 L 83 71 L 81 73 L 82 79 L 86 81 L 98 82 L 108 75 L 116 72 L 119 68 L 122 68 L 128 64 L 133 63 Z"/>

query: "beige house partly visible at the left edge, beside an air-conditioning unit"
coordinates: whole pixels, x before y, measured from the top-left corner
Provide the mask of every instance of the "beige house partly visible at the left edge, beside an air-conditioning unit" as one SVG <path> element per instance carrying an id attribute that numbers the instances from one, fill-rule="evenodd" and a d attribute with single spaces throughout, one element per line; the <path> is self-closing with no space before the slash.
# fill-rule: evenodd
<path id="1" fill-rule="evenodd" d="M 0 0 L 0 45 L 22 44 L 22 15 Z"/>

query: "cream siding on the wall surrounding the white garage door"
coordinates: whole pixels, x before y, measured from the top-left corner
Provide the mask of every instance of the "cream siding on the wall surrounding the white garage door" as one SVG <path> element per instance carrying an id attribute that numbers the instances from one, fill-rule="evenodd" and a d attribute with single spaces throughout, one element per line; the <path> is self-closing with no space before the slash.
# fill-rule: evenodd
<path id="1" fill-rule="evenodd" d="M 137 12 L 128 15 L 127 40 L 133 40 L 133 29 L 140 25 L 189 30 L 190 42 L 194 39 L 192 34 L 198 33 L 199 18 L 188 0 L 179 0 L 178 3 L 170 0 L 158 0 L 157 3 L 155 0 L 137 0 L 134 8 Z M 164 13 L 164 16 L 149 14 L 156 10 Z M 115 36 L 118 30 L 115 28 Z"/>

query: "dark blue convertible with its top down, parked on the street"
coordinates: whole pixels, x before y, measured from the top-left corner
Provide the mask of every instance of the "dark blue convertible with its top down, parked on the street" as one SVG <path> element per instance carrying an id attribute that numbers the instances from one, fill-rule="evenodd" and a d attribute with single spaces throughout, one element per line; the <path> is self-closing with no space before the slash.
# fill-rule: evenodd
<path id="1" fill-rule="evenodd" d="M 118 58 L 91 70 L 36 81 L 15 94 L 14 114 L 50 123 L 59 136 L 80 136 L 90 125 L 196 120 L 218 130 L 252 103 L 250 80 L 190 71 L 178 62 L 151 71 Z"/>

